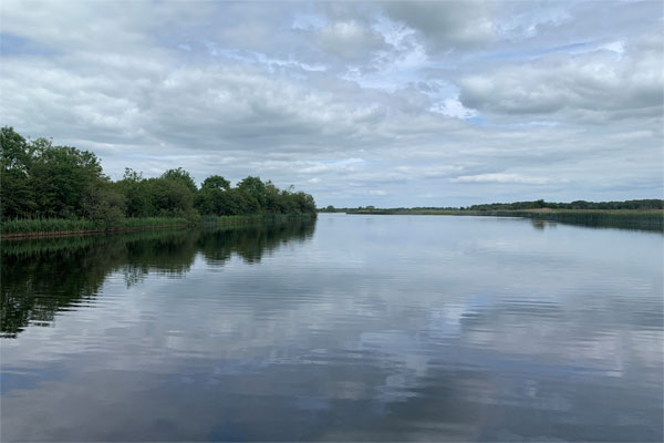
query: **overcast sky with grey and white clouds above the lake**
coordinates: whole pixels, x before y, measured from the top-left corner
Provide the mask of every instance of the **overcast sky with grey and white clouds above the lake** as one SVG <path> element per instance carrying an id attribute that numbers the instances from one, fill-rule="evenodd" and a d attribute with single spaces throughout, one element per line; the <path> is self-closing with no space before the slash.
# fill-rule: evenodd
<path id="1" fill-rule="evenodd" d="M 661 1 L 11 1 L 0 112 L 319 206 L 664 195 Z"/>

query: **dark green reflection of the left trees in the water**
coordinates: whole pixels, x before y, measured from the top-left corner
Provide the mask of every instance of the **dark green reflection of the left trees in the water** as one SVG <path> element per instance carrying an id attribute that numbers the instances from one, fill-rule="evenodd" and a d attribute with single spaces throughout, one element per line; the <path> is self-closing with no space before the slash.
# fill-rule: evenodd
<path id="1" fill-rule="evenodd" d="M 291 220 L 196 230 L 2 243 L 0 337 L 15 338 L 29 323 L 50 324 L 56 312 L 93 299 L 107 276 L 127 286 L 149 272 L 186 274 L 198 253 L 210 266 L 236 254 L 258 262 L 266 253 L 313 236 L 315 222 Z"/>

